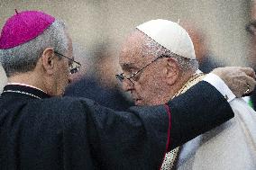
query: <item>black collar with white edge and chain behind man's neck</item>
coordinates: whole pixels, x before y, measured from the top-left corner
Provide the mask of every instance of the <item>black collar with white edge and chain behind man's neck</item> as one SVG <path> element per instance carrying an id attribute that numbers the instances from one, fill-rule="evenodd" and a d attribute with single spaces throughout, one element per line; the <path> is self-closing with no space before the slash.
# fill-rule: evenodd
<path id="1" fill-rule="evenodd" d="M 50 95 L 43 92 L 41 89 L 34 87 L 32 85 L 24 84 L 7 84 L 4 87 L 2 94 L 14 93 L 14 94 L 24 94 L 37 99 L 49 98 Z"/>

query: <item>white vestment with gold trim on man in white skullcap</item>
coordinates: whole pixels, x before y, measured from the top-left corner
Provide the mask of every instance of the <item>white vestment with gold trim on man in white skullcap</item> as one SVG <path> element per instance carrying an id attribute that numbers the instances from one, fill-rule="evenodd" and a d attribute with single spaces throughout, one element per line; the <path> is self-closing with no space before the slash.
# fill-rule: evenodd
<path id="1" fill-rule="evenodd" d="M 195 74 L 178 94 L 202 78 Z M 176 160 L 177 170 L 256 170 L 256 112 L 242 98 L 230 105 L 233 119 L 169 152 L 161 169 L 174 169 Z"/>

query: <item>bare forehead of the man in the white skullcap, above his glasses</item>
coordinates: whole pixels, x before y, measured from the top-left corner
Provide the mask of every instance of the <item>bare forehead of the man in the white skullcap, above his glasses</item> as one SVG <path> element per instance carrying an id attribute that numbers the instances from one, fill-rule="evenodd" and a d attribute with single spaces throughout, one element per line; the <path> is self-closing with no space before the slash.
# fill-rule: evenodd
<path id="1" fill-rule="evenodd" d="M 135 67 L 149 58 L 144 56 L 144 35 L 141 31 L 134 31 L 124 41 L 120 51 L 119 64 L 122 68 Z"/>

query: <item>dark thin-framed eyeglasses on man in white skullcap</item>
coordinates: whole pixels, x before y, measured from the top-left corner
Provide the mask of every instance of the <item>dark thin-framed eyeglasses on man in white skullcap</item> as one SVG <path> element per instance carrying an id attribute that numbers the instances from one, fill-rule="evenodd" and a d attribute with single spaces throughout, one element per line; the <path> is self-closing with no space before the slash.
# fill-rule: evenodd
<path id="1" fill-rule="evenodd" d="M 130 76 L 125 76 L 124 73 L 121 73 L 119 75 L 115 75 L 115 77 L 121 82 L 123 83 L 123 80 L 126 78 L 128 79 L 133 85 L 134 85 L 134 77 L 136 75 L 138 75 L 140 72 L 142 72 L 143 69 L 145 69 L 146 67 L 150 66 L 153 62 L 157 61 L 158 59 L 160 58 L 170 58 L 169 56 L 167 55 L 160 55 L 159 57 L 157 58 L 154 58 L 149 64 L 147 64 L 146 66 L 142 67 L 141 69 L 139 69 L 138 71 L 136 71 L 135 73 L 133 73 L 132 75 Z"/>

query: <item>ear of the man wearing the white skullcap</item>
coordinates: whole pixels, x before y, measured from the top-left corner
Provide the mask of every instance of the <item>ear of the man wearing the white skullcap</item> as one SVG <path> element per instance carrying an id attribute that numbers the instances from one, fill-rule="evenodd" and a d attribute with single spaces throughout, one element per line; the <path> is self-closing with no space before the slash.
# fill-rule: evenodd
<path id="1" fill-rule="evenodd" d="M 178 61 L 175 58 L 167 58 L 166 64 L 166 81 L 169 85 L 173 85 L 177 82 L 180 70 L 178 67 Z"/>

